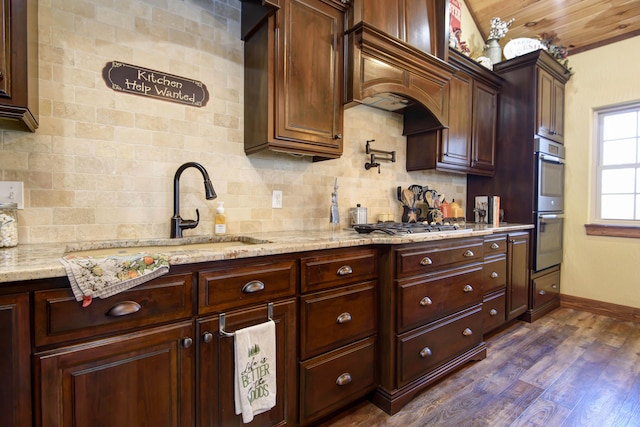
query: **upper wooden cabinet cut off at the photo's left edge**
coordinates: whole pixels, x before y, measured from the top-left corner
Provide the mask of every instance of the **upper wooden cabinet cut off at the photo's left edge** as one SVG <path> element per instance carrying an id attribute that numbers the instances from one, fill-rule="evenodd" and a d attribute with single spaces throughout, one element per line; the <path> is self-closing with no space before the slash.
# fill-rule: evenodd
<path id="1" fill-rule="evenodd" d="M 38 127 L 38 0 L 0 2 L 0 128 Z"/>

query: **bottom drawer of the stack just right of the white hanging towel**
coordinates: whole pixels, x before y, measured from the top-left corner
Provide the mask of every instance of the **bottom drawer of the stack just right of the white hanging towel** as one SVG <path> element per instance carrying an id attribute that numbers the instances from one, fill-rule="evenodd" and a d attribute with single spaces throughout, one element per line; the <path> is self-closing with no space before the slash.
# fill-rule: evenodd
<path id="1" fill-rule="evenodd" d="M 376 386 L 375 338 L 300 363 L 300 424 L 364 396 Z"/>

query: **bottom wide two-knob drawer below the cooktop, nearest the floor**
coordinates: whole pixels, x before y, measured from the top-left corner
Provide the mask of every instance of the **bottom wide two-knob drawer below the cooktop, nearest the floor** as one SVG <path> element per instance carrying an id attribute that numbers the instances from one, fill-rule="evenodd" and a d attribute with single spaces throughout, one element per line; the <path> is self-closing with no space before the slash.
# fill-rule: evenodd
<path id="1" fill-rule="evenodd" d="M 400 335 L 398 386 L 482 342 L 482 304 Z"/>

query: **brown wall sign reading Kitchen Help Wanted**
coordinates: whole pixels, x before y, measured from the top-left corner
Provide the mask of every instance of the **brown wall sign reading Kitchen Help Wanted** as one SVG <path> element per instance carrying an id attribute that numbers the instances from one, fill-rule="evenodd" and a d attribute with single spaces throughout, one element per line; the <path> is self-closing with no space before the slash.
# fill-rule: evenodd
<path id="1" fill-rule="evenodd" d="M 209 92 L 202 82 L 123 62 L 107 62 L 102 70 L 102 78 L 107 86 L 117 92 L 195 107 L 204 107 L 209 101 Z"/>

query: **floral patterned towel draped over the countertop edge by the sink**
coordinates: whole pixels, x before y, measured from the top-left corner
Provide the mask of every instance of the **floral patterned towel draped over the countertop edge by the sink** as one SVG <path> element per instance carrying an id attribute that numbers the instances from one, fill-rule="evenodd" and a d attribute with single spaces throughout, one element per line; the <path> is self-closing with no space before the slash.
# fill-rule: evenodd
<path id="1" fill-rule="evenodd" d="M 64 265 L 71 289 L 82 306 L 94 297 L 107 298 L 169 271 L 166 255 L 139 253 L 105 258 L 66 256 Z"/>

